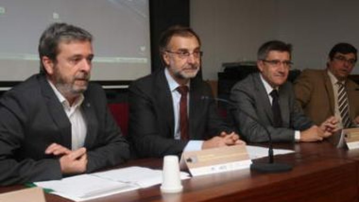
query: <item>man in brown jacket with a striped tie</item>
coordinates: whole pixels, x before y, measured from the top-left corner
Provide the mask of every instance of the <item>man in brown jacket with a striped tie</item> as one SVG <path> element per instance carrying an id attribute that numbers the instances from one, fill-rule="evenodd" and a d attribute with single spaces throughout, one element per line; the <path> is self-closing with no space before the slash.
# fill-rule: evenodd
<path id="1" fill-rule="evenodd" d="M 297 100 L 314 123 L 335 116 L 338 127 L 359 123 L 359 86 L 348 79 L 357 60 L 357 50 L 349 43 L 338 43 L 329 52 L 327 68 L 306 69 L 294 83 Z"/>

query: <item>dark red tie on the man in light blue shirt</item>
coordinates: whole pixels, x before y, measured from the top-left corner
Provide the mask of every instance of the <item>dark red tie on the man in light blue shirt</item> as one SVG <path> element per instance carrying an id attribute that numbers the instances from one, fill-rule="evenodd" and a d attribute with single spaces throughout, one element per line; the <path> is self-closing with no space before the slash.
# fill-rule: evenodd
<path id="1" fill-rule="evenodd" d="M 187 116 L 187 86 L 177 87 L 177 91 L 181 94 L 180 100 L 180 130 L 181 130 L 181 139 L 188 140 L 188 116 Z"/>

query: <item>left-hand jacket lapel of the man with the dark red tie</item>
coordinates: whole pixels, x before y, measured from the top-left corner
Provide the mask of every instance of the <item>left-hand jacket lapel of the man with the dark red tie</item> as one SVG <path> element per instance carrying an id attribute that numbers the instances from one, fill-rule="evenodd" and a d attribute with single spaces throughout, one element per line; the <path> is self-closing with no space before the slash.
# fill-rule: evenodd
<path id="1" fill-rule="evenodd" d="M 172 94 L 168 86 L 167 79 L 164 75 L 164 70 L 161 69 L 157 76 L 156 76 L 156 89 L 158 90 L 158 93 L 156 93 L 158 100 L 158 109 L 164 114 L 164 118 L 166 119 L 167 125 L 169 127 L 169 131 L 171 133 L 165 133 L 165 134 L 171 134 L 173 138 L 174 133 L 174 112 L 173 112 L 173 101 L 172 101 Z"/>

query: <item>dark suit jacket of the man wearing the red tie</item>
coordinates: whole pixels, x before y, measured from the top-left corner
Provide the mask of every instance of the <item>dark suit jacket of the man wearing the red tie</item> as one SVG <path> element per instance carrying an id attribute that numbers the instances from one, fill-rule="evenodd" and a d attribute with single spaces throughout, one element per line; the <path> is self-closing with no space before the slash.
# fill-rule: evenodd
<path id="1" fill-rule="evenodd" d="M 218 115 L 211 89 L 199 77 L 191 79 L 189 101 L 189 136 L 206 140 L 221 131 L 232 130 Z M 180 155 L 187 141 L 174 139 L 172 95 L 164 69 L 133 82 L 129 88 L 129 135 L 140 157 Z"/>

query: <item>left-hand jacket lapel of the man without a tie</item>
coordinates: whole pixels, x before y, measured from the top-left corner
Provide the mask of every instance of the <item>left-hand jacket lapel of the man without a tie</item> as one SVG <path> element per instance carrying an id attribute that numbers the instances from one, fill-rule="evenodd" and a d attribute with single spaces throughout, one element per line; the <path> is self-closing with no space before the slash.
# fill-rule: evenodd
<path id="1" fill-rule="evenodd" d="M 67 118 L 64 108 L 53 92 L 53 89 L 51 88 L 45 76 L 41 76 L 39 78 L 39 83 L 43 96 L 45 97 L 50 116 L 61 133 L 61 137 L 58 138 L 59 142 L 57 143 L 71 149 L 71 124 Z"/>

